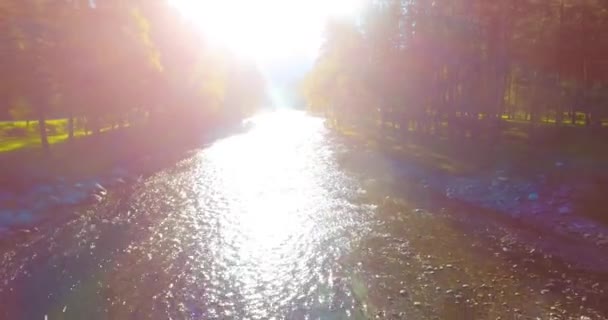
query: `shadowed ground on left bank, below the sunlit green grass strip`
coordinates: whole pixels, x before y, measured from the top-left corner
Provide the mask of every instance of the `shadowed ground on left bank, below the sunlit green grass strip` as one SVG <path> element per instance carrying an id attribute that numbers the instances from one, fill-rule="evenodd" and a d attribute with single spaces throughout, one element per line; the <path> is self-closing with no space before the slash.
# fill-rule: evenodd
<path id="1" fill-rule="evenodd" d="M 0 153 L 0 189 L 20 192 L 35 183 L 87 179 L 117 167 L 146 175 L 239 129 L 235 124 L 206 130 L 139 125 L 66 139 L 53 144 L 49 154 L 39 146 Z"/>

